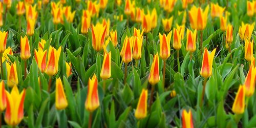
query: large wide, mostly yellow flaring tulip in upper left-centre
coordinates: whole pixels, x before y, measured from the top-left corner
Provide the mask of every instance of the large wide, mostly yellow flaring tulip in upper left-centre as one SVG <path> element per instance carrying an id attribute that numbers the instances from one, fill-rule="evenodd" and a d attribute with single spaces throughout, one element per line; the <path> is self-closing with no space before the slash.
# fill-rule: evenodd
<path id="1" fill-rule="evenodd" d="M 105 40 L 106 26 L 97 23 L 96 26 L 92 26 L 92 46 L 96 51 L 100 51 L 103 48 Z"/>

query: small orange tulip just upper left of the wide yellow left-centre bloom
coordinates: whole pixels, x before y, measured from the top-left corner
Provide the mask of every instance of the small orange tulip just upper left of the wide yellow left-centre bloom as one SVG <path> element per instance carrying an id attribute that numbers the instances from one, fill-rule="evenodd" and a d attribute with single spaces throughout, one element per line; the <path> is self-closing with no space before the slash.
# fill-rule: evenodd
<path id="1" fill-rule="evenodd" d="M 81 33 L 82 34 L 88 33 L 88 29 L 90 28 L 90 26 L 91 26 L 91 14 L 88 10 L 83 11 Z"/>

